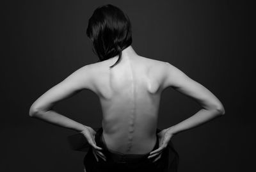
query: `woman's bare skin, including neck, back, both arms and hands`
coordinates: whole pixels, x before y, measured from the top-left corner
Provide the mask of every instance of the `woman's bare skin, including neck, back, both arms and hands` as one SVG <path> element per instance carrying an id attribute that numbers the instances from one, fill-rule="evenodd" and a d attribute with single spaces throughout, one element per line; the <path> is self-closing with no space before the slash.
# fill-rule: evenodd
<path id="1" fill-rule="evenodd" d="M 161 157 L 171 137 L 184 130 L 212 120 L 225 110 L 220 100 L 211 91 L 190 79 L 170 63 L 144 58 L 131 46 L 122 51 L 121 61 L 114 66 L 117 56 L 83 66 L 39 97 L 29 110 L 29 115 L 55 125 L 77 130 L 84 134 L 93 153 L 106 160 L 95 144 L 95 131 L 52 110 L 56 102 L 88 89 L 100 98 L 102 107 L 103 137 L 110 150 L 125 154 L 145 154 L 148 158 Z M 156 143 L 156 128 L 159 101 L 164 89 L 173 89 L 193 98 L 202 109 L 190 118 L 162 130 L 159 148 Z"/>

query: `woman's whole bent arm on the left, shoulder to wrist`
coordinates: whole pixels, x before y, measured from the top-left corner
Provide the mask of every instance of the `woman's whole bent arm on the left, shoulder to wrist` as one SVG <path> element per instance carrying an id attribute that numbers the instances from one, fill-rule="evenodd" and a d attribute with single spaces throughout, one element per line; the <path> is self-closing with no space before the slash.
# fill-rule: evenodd
<path id="1" fill-rule="evenodd" d="M 83 89 L 90 88 L 92 88 L 92 72 L 90 65 L 86 65 L 40 96 L 30 107 L 29 116 L 81 132 L 87 126 L 56 113 L 56 111 L 52 110 L 52 107 L 57 102 L 72 97 Z"/>

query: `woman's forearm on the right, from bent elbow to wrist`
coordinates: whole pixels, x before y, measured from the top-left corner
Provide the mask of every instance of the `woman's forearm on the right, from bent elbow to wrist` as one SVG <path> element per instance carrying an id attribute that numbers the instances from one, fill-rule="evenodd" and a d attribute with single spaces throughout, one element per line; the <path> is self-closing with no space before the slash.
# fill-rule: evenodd
<path id="1" fill-rule="evenodd" d="M 168 132 L 170 132 L 171 134 L 178 134 L 185 130 L 198 127 L 199 125 L 202 125 L 207 121 L 213 120 L 218 116 L 221 116 L 221 113 L 218 110 L 200 109 L 200 111 L 198 111 L 188 119 L 181 121 L 177 125 L 173 125 L 172 127 L 169 127 Z"/>

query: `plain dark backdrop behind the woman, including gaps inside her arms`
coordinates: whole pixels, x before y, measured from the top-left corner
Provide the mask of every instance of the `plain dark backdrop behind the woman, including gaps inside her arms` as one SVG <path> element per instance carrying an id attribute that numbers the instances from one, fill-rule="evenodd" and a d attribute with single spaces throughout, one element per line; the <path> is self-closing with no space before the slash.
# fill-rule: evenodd
<path id="1" fill-rule="evenodd" d="M 30 118 L 36 98 L 81 66 L 95 63 L 85 35 L 93 10 L 111 3 L 132 22 L 132 47 L 168 61 L 218 97 L 226 114 L 172 138 L 179 171 L 246 171 L 253 166 L 250 111 L 253 63 L 248 59 L 245 1 L 5 1 L 1 5 L 0 171 L 83 171 L 83 152 L 70 150 L 73 130 Z M 90 127 L 101 126 L 99 99 L 82 91 L 55 106 Z M 200 106 L 171 88 L 163 92 L 158 128 Z"/>

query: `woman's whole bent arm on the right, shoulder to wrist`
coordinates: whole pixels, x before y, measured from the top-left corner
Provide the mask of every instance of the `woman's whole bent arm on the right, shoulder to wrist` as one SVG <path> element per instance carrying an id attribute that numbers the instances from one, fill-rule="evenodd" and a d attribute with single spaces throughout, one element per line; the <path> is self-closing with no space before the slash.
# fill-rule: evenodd
<path id="1" fill-rule="evenodd" d="M 167 132 L 172 135 L 178 134 L 225 114 L 225 109 L 220 100 L 202 84 L 194 81 L 168 62 L 166 62 L 166 70 L 164 71 L 164 88 L 171 86 L 180 93 L 193 98 L 202 107 L 190 118 L 169 127 Z"/>

